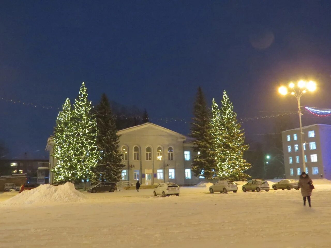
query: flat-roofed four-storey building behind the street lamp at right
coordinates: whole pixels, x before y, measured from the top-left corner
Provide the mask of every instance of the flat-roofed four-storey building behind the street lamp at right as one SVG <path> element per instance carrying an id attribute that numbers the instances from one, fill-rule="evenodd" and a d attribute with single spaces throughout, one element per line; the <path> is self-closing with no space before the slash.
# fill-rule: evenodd
<path id="1" fill-rule="evenodd" d="M 314 124 L 302 127 L 306 173 L 312 179 L 331 180 L 331 125 Z M 300 128 L 282 133 L 286 179 L 298 179 L 303 171 Z"/>

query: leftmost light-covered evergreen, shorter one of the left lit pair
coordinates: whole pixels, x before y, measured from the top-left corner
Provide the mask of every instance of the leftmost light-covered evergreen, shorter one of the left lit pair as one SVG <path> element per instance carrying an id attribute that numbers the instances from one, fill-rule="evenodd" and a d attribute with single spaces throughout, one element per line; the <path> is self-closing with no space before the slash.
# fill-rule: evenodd
<path id="1" fill-rule="evenodd" d="M 70 100 L 67 98 L 56 119 L 53 136 L 53 157 L 57 159 L 57 165 L 53 168 L 53 173 L 54 180 L 58 183 L 68 182 L 75 178 L 72 131 L 72 109 Z"/>

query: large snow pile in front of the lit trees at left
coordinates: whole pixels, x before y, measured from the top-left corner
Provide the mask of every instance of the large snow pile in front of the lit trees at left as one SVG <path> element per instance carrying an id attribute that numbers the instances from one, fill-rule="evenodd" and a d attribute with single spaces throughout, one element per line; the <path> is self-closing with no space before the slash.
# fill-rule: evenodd
<path id="1" fill-rule="evenodd" d="M 31 190 L 24 190 L 4 201 L 2 205 L 80 202 L 84 201 L 85 198 L 86 196 L 76 190 L 72 183 L 59 186 L 44 184 Z"/>

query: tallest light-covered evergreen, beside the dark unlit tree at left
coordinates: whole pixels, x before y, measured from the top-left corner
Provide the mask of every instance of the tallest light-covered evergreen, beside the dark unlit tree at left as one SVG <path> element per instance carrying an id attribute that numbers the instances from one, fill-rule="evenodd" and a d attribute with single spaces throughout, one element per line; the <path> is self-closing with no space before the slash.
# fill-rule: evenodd
<path id="1" fill-rule="evenodd" d="M 91 102 L 87 100 L 84 82 L 80 87 L 73 109 L 73 154 L 76 168 L 76 181 L 91 179 L 92 169 L 96 167 L 100 152 L 96 145 L 97 123 L 91 114 Z"/>

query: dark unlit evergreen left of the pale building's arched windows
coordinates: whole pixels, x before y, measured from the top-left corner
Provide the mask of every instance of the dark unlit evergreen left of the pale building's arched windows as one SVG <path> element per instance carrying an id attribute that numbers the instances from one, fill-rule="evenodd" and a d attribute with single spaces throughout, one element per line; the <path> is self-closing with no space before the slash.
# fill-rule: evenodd
<path id="1" fill-rule="evenodd" d="M 93 169 L 93 181 L 118 182 L 121 180 L 123 168 L 122 154 L 118 149 L 119 135 L 106 94 L 101 96 L 101 101 L 95 110 L 98 127 L 97 146 L 101 156 Z"/>

